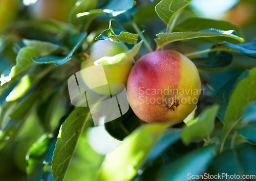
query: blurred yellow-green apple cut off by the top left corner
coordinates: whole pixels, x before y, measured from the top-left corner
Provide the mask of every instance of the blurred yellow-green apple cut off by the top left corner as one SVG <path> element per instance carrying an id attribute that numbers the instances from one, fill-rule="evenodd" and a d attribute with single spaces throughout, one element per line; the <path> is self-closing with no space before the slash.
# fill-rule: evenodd
<path id="1" fill-rule="evenodd" d="M 18 12 L 19 0 L 0 0 L 0 32 L 4 31 Z"/>

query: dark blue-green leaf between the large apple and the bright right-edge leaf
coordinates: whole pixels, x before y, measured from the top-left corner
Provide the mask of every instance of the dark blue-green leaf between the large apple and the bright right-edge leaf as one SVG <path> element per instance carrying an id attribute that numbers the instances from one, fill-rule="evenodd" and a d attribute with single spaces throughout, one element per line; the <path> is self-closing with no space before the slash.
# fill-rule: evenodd
<path id="1" fill-rule="evenodd" d="M 236 85 L 241 80 L 245 79 L 247 76 L 248 76 L 248 70 L 244 71 L 240 76 L 233 77 L 233 79 L 231 79 L 224 86 L 222 86 L 214 96 L 214 104 L 219 105 L 219 111 L 218 111 L 217 117 L 221 120 L 221 122 L 224 122 L 226 110 L 228 107 L 228 101 L 234 87 L 236 87 Z"/>

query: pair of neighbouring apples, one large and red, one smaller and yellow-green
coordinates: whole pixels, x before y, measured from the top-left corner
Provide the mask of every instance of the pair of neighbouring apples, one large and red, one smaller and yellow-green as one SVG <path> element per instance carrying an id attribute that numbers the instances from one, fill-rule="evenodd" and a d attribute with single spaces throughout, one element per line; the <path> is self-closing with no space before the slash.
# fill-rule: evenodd
<path id="1" fill-rule="evenodd" d="M 101 57 L 124 53 L 121 42 L 96 41 L 81 69 L 94 65 Z M 109 83 L 127 85 L 127 97 L 134 113 L 146 122 L 183 121 L 196 107 L 201 81 L 195 64 L 174 50 L 160 50 L 141 57 L 134 65 L 103 66 Z M 90 79 L 84 80 L 90 87 Z M 99 80 L 100 81 L 100 80 Z"/>

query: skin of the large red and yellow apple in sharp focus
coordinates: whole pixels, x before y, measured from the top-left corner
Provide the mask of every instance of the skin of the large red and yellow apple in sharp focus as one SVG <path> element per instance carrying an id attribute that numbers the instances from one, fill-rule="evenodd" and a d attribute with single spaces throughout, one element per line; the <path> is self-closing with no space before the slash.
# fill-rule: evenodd
<path id="1" fill-rule="evenodd" d="M 141 57 L 127 82 L 129 104 L 146 122 L 180 123 L 195 109 L 200 90 L 195 64 L 174 50 L 154 51 Z M 174 110 L 168 107 L 172 99 L 180 100 Z"/>

